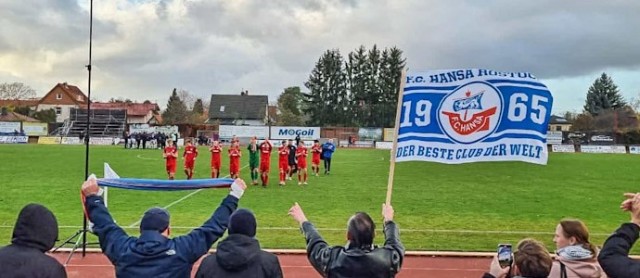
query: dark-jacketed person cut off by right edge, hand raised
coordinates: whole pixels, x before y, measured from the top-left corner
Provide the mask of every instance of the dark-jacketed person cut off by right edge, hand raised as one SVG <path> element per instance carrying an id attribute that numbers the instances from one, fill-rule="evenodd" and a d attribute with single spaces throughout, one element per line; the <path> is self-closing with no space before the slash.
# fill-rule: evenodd
<path id="1" fill-rule="evenodd" d="M 626 193 L 620 205 L 631 214 L 631 222 L 624 223 L 605 241 L 598 262 L 607 276 L 640 277 L 640 262 L 629 258 L 629 250 L 638 240 L 640 233 L 640 194 Z"/>

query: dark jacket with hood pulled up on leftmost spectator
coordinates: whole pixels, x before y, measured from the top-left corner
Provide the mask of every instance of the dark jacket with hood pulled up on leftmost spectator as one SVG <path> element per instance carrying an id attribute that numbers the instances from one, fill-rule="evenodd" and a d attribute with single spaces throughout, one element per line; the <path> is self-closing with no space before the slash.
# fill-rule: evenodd
<path id="1" fill-rule="evenodd" d="M 44 254 L 58 239 L 58 222 L 42 205 L 25 206 L 13 230 L 11 244 L 0 249 L 2 277 L 67 277 L 64 267 Z"/>

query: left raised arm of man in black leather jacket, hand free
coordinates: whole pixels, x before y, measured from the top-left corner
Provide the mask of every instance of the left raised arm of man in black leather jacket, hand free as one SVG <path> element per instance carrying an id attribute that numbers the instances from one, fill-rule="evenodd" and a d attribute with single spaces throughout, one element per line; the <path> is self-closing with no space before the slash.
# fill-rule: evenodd
<path id="1" fill-rule="evenodd" d="M 307 257 L 309 262 L 323 277 L 327 276 L 327 266 L 331 258 L 332 249 L 326 241 L 322 239 L 318 230 L 307 220 L 302 208 L 295 203 L 289 210 L 289 215 L 300 224 L 302 233 L 307 242 Z"/>

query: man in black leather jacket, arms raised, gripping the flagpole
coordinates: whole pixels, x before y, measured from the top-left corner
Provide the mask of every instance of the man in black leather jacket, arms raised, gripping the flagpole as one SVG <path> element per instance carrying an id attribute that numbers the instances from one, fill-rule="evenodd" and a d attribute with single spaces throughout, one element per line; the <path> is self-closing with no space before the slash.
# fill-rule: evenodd
<path id="1" fill-rule="evenodd" d="M 345 247 L 330 247 L 298 203 L 291 207 L 289 215 L 300 224 L 307 241 L 309 262 L 323 277 L 394 277 L 400 271 L 404 246 L 390 205 L 382 205 L 385 235 L 382 248 L 373 245 L 376 225 L 364 212 L 349 219 Z"/>

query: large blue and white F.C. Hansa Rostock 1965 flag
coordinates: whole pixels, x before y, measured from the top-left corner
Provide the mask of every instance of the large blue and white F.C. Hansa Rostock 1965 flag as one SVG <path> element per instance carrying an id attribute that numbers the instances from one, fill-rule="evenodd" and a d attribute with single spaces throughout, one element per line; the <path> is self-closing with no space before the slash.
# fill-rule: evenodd
<path id="1" fill-rule="evenodd" d="M 547 87 L 529 73 L 409 73 L 399 103 L 397 161 L 546 164 L 552 104 Z"/>

